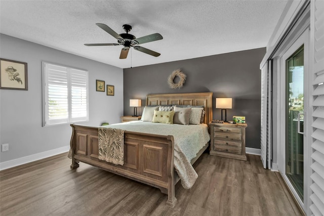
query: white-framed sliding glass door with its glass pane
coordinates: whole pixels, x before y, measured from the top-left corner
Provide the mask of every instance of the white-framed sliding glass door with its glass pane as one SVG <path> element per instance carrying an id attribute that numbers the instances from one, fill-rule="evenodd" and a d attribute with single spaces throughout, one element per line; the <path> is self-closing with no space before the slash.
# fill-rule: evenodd
<path id="1" fill-rule="evenodd" d="M 308 45 L 309 30 L 291 43 L 280 55 L 278 81 L 279 171 L 300 206 L 307 200 L 309 172 L 307 171 L 309 119 Z"/>

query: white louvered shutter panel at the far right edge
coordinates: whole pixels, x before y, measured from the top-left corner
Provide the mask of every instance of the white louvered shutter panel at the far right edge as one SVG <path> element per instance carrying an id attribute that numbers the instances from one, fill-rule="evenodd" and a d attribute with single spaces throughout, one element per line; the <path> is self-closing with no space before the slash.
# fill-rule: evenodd
<path id="1" fill-rule="evenodd" d="M 312 82 L 312 154 L 311 204 L 312 215 L 324 215 L 324 1 L 311 1 Z"/>

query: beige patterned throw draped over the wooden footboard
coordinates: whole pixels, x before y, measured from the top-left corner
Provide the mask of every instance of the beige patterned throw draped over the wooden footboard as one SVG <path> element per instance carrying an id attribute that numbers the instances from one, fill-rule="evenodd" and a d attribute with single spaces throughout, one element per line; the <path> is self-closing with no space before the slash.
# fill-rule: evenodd
<path id="1" fill-rule="evenodd" d="M 99 159 L 124 165 L 124 131 L 122 129 L 99 127 Z"/>

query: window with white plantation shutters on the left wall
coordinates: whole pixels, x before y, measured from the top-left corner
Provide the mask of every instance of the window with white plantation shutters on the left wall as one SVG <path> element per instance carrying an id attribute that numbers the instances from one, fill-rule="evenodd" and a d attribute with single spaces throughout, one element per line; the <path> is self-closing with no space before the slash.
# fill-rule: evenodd
<path id="1" fill-rule="evenodd" d="M 43 62 L 43 126 L 89 121 L 88 71 Z"/>

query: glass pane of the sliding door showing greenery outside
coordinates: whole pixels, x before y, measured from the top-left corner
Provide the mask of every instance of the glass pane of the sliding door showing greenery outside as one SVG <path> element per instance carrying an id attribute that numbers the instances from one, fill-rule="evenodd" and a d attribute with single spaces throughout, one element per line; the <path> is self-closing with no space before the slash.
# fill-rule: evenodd
<path id="1" fill-rule="evenodd" d="M 304 198 L 304 45 L 286 59 L 286 176 Z"/>

